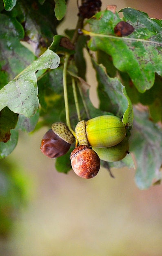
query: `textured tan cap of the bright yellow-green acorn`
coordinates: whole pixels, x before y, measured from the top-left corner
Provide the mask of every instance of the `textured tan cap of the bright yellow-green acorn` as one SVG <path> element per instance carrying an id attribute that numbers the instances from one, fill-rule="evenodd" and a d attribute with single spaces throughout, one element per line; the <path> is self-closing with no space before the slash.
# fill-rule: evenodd
<path id="1" fill-rule="evenodd" d="M 80 145 L 87 145 L 87 146 L 89 146 L 89 142 L 87 140 L 87 135 L 86 135 L 86 125 L 85 125 L 85 121 L 84 120 L 80 121 L 76 125 L 76 127 L 75 127 L 75 134 L 76 134 L 76 137 L 77 137 Z"/>

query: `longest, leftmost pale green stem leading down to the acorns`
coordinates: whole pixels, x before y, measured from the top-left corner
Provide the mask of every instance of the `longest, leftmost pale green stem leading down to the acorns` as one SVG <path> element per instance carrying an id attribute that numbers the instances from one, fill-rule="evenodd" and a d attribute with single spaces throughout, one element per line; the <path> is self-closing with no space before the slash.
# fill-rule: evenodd
<path id="1" fill-rule="evenodd" d="M 71 128 L 70 124 L 70 117 L 69 117 L 69 104 L 68 104 L 68 95 L 67 95 L 67 64 L 69 60 L 70 55 L 66 54 L 65 55 L 65 60 L 64 60 L 64 67 L 63 67 L 63 88 L 64 88 L 64 103 L 65 103 L 65 114 L 66 114 L 66 121 L 67 121 L 67 126 L 73 136 L 76 138 L 74 130 Z"/>

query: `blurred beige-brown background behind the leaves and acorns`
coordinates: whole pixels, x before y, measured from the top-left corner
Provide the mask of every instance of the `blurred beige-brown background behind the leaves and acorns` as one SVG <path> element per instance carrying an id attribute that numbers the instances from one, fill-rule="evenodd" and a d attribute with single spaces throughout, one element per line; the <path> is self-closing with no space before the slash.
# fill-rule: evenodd
<path id="1" fill-rule="evenodd" d="M 162 19 L 161 0 L 103 0 L 102 10 L 108 4 L 116 4 L 117 11 L 133 7 Z M 58 33 L 67 25 L 74 28 L 76 13 L 76 1 L 69 0 Z M 90 67 L 88 74 L 88 83 L 95 86 Z M 94 89 L 91 99 L 97 105 Z M 162 185 L 141 191 L 134 182 L 135 171 L 127 168 L 113 169 L 114 179 L 103 168 L 91 180 L 73 171 L 58 173 L 55 160 L 40 152 L 46 131 L 20 132 L 16 149 L 1 160 L 4 182 L 0 191 L 9 186 L 7 198 L 19 211 L 10 212 L 6 206 L 5 216 L 14 221 L 4 219 L 9 234 L 0 227 L 0 256 L 161 256 Z M 14 183 L 5 186 L 7 169 Z"/>

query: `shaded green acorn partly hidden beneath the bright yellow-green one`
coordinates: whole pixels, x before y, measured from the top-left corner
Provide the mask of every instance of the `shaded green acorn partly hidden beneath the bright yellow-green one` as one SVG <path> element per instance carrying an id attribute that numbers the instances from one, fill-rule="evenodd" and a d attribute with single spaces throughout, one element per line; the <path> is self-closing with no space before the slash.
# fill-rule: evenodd
<path id="1" fill-rule="evenodd" d="M 124 139 L 115 146 L 109 148 L 92 147 L 92 149 L 98 154 L 101 160 L 107 162 L 117 162 L 129 154 L 129 141 L 127 137 L 124 137 Z"/>

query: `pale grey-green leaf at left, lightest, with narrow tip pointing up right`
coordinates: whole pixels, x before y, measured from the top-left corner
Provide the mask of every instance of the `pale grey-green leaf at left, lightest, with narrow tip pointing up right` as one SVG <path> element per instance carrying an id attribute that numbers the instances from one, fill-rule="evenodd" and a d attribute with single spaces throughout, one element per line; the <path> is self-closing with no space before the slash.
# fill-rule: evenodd
<path id="1" fill-rule="evenodd" d="M 36 71 L 57 68 L 60 58 L 47 49 L 36 61 L 33 61 L 15 79 L 0 90 L 0 110 L 8 106 L 15 113 L 31 117 L 38 110 L 38 87 Z"/>

